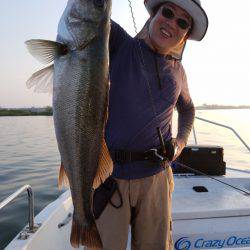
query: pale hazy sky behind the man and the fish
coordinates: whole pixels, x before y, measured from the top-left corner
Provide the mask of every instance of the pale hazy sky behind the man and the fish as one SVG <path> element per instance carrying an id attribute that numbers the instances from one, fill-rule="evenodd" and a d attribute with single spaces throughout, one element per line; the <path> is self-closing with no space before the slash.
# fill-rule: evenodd
<path id="1" fill-rule="evenodd" d="M 138 29 L 148 18 L 143 0 L 131 0 Z M 55 40 L 66 0 L 1 0 L 0 106 L 43 107 L 52 97 L 27 89 L 25 82 L 44 67 L 24 42 Z M 202 0 L 209 18 L 206 37 L 189 41 L 183 56 L 194 104 L 250 105 L 250 1 Z M 113 0 L 112 19 L 135 31 L 128 0 Z"/>

